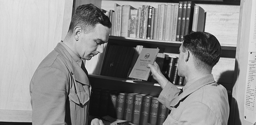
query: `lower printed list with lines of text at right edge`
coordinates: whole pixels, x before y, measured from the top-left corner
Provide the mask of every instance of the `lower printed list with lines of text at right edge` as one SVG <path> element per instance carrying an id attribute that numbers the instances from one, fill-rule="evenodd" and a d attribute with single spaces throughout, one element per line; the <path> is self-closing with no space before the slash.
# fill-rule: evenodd
<path id="1" fill-rule="evenodd" d="M 244 94 L 244 120 L 256 122 L 256 53 L 248 53 L 246 85 Z"/>

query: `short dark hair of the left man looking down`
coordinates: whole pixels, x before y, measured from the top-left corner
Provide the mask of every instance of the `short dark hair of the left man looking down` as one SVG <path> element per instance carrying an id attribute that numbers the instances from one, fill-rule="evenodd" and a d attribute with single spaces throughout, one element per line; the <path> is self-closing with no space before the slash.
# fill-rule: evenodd
<path id="1" fill-rule="evenodd" d="M 84 32 L 92 31 L 96 24 L 102 24 L 111 28 L 112 24 L 107 15 L 93 4 L 84 4 L 76 8 L 69 25 L 69 33 L 73 33 L 75 27 L 81 27 Z"/>

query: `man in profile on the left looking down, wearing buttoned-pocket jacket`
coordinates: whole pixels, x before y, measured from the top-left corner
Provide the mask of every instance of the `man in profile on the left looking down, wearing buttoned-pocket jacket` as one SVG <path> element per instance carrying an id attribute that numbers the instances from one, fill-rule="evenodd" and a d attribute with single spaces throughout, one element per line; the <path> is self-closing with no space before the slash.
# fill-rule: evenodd
<path id="1" fill-rule="evenodd" d="M 39 64 L 30 82 L 32 123 L 87 125 L 91 85 L 84 60 L 103 52 L 111 22 L 93 4 L 79 6 L 65 39 Z M 92 125 L 104 125 L 93 119 Z"/>

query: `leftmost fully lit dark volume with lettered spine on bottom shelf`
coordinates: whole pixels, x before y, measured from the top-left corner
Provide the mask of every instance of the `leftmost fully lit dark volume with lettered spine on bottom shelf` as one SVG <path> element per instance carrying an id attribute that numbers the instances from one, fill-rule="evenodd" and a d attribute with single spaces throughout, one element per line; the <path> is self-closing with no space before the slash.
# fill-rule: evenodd
<path id="1" fill-rule="evenodd" d="M 116 99 L 116 108 L 115 108 L 117 119 L 124 119 L 125 98 L 126 98 L 126 93 L 123 93 L 123 92 L 118 93 L 118 96 Z"/>

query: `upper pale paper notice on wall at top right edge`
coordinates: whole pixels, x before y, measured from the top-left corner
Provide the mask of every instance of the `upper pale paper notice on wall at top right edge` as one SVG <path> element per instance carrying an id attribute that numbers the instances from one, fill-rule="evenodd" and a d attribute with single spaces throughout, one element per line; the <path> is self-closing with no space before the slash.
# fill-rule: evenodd
<path id="1" fill-rule="evenodd" d="M 256 5 L 256 0 L 252 2 Z M 248 52 L 256 52 L 256 6 L 252 6 Z"/>

